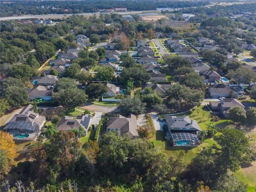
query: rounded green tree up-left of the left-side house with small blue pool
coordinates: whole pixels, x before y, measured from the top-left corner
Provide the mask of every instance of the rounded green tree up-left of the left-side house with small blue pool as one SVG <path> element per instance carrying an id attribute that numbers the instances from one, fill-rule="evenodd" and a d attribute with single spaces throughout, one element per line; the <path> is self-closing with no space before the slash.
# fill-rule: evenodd
<path id="1" fill-rule="evenodd" d="M 21 64 L 14 65 L 9 73 L 9 76 L 14 78 L 29 79 L 30 77 L 33 77 L 34 74 L 35 70 L 33 68 L 31 68 L 29 65 Z"/>

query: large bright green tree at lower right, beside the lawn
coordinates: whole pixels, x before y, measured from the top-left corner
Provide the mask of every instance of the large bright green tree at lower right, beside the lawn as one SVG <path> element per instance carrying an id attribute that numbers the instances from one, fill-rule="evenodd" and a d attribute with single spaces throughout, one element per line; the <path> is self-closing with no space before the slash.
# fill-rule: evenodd
<path id="1" fill-rule="evenodd" d="M 226 127 L 221 130 L 222 134 L 214 136 L 221 149 L 217 148 L 217 164 L 224 170 L 237 171 L 239 165 L 252 162 L 255 158 L 249 139 L 241 130 Z M 241 144 L 243 143 L 243 144 Z"/>

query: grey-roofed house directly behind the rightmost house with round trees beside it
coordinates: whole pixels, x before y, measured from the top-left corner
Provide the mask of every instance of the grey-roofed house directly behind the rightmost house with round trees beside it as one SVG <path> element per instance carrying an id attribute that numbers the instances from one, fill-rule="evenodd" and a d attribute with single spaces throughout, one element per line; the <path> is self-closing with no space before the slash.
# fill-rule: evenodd
<path id="1" fill-rule="evenodd" d="M 221 97 L 233 98 L 237 96 L 237 93 L 225 84 L 215 84 L 212 87 L 209 87 L 209 96 L 213 99 Z"/>

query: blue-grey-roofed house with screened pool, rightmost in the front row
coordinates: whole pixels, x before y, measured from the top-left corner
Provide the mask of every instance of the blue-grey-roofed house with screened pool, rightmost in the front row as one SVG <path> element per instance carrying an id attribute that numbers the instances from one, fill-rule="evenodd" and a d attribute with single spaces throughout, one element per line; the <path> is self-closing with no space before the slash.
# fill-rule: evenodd
<path id="1" fill-rule="evenodd" d="M 165 116 L 165 119 L 173 146 L 200 145 L 197 135 L 201 128 L 195 120 L 191 120 L 189 116 Z"/>

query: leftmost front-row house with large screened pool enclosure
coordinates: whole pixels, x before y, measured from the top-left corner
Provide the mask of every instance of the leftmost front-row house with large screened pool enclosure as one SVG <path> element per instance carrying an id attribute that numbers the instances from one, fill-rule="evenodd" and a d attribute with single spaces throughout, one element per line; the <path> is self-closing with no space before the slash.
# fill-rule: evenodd
<path id="1" fill-rule="evenodd" d="M 15 114 L 3 131 L 12 135 L 13 140 L 35 140 L 45 123 L 45 117 L 34 113 L 29 104 L 19 114 Z"/>

